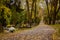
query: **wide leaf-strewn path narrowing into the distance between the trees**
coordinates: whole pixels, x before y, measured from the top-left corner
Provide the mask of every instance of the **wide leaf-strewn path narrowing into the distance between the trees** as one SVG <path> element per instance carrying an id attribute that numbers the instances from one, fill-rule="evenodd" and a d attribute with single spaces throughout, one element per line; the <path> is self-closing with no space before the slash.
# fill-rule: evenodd
<path id="1" fill-rule="evenodd" d="M 43 21 L 41 21 L 33 30 L 26 30 L 14 36 L 0 38 L 0 40 L 52 40 L 50 36 L 54 31 L 52 27 L 45 25 Z"/>

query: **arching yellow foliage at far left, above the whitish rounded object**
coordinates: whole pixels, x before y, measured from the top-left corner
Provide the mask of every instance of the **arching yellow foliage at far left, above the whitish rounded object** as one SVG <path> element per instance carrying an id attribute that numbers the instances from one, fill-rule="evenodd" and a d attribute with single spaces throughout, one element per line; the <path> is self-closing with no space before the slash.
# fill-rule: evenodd
<path id="1" fill-rule="evenodd" d="M 10 24 L 10 19 L 11 19 L 11 11 L 8 7 L 4 6 L 4 5 L 1 5 L 0 6 L 0 12 L 2 11 L 2 9 L 4 9 L 4 18 L 6 19 L 6 23 L 7 24 Z M 8 17 L 9 16 L 9 17 Z"/>

